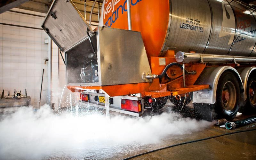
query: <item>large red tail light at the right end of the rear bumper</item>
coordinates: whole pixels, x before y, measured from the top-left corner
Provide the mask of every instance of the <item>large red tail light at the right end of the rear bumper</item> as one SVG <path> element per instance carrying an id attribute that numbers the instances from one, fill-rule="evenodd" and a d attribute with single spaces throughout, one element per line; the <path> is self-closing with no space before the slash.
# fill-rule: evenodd
<path id="1" fill-rule="evenodd" d="M 121 100 L 121 108 L 133 112 L 140 112 L 141 111 L 141 104 L 139 100 Z"/>

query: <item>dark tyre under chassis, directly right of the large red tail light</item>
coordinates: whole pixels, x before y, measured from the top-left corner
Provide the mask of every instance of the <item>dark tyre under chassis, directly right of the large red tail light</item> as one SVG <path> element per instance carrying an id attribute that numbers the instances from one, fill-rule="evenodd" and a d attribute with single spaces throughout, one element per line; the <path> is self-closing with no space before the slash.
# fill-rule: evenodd
<path id="1" fill-rule="evenodd" d="M 144 98 L 144 107 L 151 107 L 151 103 L 148 102 L 149 97 Z M 160 97 L 156 98 L 156 102 L 153 103 L 153 108 L 150 108 L 153 112 L 156 112 L 157 110 L 164 107 L 168 100 L 168 97 Z M 149 109 L 149 108 L 148 108 Z"/>

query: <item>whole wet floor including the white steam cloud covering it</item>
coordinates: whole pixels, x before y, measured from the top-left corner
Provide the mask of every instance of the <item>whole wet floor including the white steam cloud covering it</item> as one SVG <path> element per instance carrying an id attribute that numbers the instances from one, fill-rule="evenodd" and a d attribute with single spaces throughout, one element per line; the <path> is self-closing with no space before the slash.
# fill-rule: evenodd
<path id="1" fill-rule="evenodd" d="M 167 106 L 170 105 L 169 103 Z M 167 146 L 255 129 L 250 124 L 226 130 L 164 107 L 155 115 L 134 118 L 104 110 L 84 116 L 56 116 L 45 109 L 17 112 L 0 121 L 0 159 L 124 159 Z M 84 111 L 81 111 L 83 113 Z M 244 119 L 239 115 L 236 119 Z M 256 159 L 256 131 L 236 133 L 152 152 L 135 159 Z"/>

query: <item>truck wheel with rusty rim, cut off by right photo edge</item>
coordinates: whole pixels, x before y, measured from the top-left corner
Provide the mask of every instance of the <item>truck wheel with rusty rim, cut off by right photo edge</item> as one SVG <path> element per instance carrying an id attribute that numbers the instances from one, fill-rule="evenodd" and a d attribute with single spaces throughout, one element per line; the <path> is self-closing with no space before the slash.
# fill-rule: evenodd
<path id="1" fill-rule="evenodd" d="M 240 112 L 243 114 L 252 114 L 256 112 L 256 78 L 250 77 L 246 87 L 246 104 L 240 107 Z"/>

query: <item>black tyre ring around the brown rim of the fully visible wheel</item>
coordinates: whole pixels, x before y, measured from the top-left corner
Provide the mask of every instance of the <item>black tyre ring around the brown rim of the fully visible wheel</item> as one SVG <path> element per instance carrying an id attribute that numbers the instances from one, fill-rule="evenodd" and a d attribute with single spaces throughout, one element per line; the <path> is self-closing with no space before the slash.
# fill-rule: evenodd
<path id="1" fill-rule="evenodd" d="M 230 111 L 225 109 L 222 102 L 223 87 L 229 81 L 234 84 L 235 90 L 236 90 L 236 102 L 234 104 L 234 108 Z M 240 88 L 239 88 L 239 84 L 236 79 L 236 76 L 232 72 L 226 71 L 220 76 L 220 79 L 217 85 L 216 102 L 214 104 L 214 109 L 217 114 L 217 118 L 226 118 L 227 120 L 234 119 L 239 109 L 239 102 L 240 102 Z"/>

